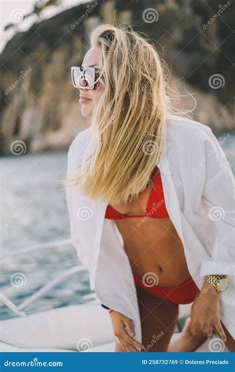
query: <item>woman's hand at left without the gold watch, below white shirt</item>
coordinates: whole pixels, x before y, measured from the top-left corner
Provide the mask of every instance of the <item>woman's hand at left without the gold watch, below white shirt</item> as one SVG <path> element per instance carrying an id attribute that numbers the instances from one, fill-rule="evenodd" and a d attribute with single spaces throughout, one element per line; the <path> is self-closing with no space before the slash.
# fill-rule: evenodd
<path id="1" fill-rule="evenodd" d="M 140 344 L 133 338 L 135 337 L 135 331 L 130 318 L 118 311 L 112 311 L 110 316 L 114 328 L 114 334 L 118 338 L 119 343 L 124 351 L 138 353 L 139 351 L 135 348 L 135 346 L 145 349 L 143 344 Z"/>

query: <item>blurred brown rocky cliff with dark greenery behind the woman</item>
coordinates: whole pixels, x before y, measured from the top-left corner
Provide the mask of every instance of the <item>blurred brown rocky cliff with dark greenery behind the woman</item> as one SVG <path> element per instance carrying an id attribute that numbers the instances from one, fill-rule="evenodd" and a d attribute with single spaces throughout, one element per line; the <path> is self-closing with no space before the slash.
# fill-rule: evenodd
<path id="1" fill-rule="evenodd" d="M 233 84 L 228 75 L 232 36 L 227 37 L 229 28 L 218 32 L 222 17 L 229 27 L 233 16 L 225 9 L 221 19 L 204 30 L 203 24 L 218 10 L 219 2 L 209 1 L 205 8 L 202 4 L 191 8 L 190 3 L 94 1 L 16 34 L 0 57 L 1 154 L 10 154 L 12 142 L 18 140 L 25 143 L 27 152 L 67 149 L 74 136 L 89 126 L 89 119 L 81 115 L 79 91 L 72 86 L 70 67 L 81 64 L 89 49 L 89 32 L 100 23 L 113 23 L 115 11 L 117 24 L 135 25 L 134 29 L 143 37 L 148 35 L 161 54 L 159 45 L 164 48 L 163 57 L 175 73 L 173 84 L 181 93 L 194 93 L 195 120 L 216 132 L 234 129 Z M 149 8 L 155 9 L 157 20 L 143 16 Z M 223 47 L 218 51 L 221 38 Z M 219 89 L 208 83 L 213 74 L 222 76 Z M 193 104 L 190 96 L 180 102 L 183 108 Z"/>

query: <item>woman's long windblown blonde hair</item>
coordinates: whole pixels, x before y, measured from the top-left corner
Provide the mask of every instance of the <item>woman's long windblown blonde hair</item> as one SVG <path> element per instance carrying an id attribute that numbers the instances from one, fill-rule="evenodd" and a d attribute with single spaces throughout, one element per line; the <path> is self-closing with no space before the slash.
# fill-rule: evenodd
<path id="1" fill-rule="evenodd" d="M 165 63 L 131 26 L 99 25 L 90 41 L 101 48 L 105 86 L 91 118 L 91 137 L 98 140 L 79 172 L 63 182 L 92 199 L 127 203 L 153 186 L 168 116 L 185 112 L 173 107 Z"/>

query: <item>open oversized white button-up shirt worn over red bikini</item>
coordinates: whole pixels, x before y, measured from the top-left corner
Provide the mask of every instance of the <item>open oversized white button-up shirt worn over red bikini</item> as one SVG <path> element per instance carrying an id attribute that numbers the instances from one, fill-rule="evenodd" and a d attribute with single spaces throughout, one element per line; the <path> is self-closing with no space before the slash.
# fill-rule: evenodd
<path id="1" fill-rule="evenodd" d="M 95 144 L 91 128 L 78 133 L 68 150 L 67 177 L 78 172 L 85 149 Z M 228 275 L 220 294 L 220 317 L 235 338 L 234 176 L 212 130 L 171 115 L 166 144 L 156 165 L 165 204 L 181 239 L 188 271 L 201 289 L 207 274 Z M 102 304 L 133 320 L 142 342 L 137 294 L 123 239 L 114 220 L 105 219 L 108 201 L 92 200 L 66 187 L 70 232 L 78 258 L 88 268 L 90 289 Z M 180 267 L 178 267 L 180 270 Z"/>

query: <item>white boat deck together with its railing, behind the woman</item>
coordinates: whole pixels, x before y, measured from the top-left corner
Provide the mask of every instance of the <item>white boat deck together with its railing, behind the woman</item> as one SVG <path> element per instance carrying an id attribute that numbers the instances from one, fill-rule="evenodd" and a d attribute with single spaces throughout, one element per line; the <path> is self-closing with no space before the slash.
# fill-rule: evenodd
<path id="1" fill-rule="evenodd" d="M 3 252 L 0 258 L 24 254 L 33 250 L 56 248 L 71 244 L 71 240 L 37 244 L 33 247 Z M 1 302 L 17 317 L 0 321 L 1 352 L 114 352 L 116 337 L 108 310 L 104 309 L 94 294 L 84 296 L 84 304 L 38 311 L 27 315 L 24 309 L 38 300 L 58 283 L 74 274 L 86 270 L 82 265 L 74 266 L 55 276 L 53 280 L 30 295 L 18 306 L 0 294 Z M 179 319 L 190 315 L 191 304 L 179 306 Z M 176 327 L 173 338 L 179 335 Z M 218 339 L 213 334 L 213 339 Z M 207 339 L 195 352 L 208 352 Z M 216 351 L 216 350 L 215 350 Z M 221 350 L 222 351 L 222 350 Z M 224 352 L 228 352 L 225 347 Z"/>

